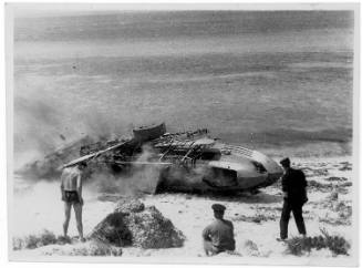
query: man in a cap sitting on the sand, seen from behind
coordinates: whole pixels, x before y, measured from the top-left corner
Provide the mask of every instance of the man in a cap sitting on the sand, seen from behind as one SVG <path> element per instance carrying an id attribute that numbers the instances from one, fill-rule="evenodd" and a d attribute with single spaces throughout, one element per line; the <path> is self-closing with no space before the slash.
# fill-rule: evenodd
<path id="1" fill-rule="evenodd" d="M 214 204 L 211 208 L 214 209 L 215 220 L 203 231 L 206 255 L 213 256 L 226 250 L 235 250 L 232 223 L 224 219 L 226 207 Z"/>

